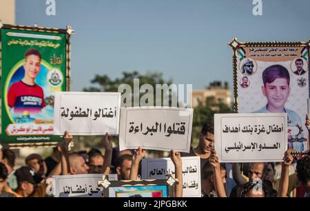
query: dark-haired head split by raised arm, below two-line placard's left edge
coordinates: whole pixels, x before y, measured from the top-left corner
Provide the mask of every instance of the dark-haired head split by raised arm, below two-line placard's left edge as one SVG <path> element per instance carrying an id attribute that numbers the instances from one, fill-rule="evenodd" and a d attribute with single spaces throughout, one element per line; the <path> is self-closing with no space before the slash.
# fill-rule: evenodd
<path id="1" fill-rule="evenodd" d="M 206 194 L 209 194 L 209 191 L 215 190 L 214 186 L 214 170 L 212 165 L 207 162 L 205 165 L 203 165 L 203 169 L 200 172 L 201 177 L 201 188 L 203 192 Z M 220 174 L 222 176 L 223 183 L 225 185 L 226 183 L 226 167 L 225 163 L 220 164 Z"/>

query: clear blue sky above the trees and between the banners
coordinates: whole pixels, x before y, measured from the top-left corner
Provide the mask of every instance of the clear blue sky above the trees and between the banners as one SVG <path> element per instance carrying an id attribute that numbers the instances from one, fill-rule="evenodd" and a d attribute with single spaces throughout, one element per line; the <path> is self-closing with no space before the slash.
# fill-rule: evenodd
<path id="1" fill-rule="evenodd" d="M 72 26 L 72 91 L 91 85 L 95 74 L 163 72 L 174 83 L 203 89 L 214 80 L 232 86 L 232 51 L 239 41 L 308 41 L 309 0 L 16 0 L 22 25 Z"/>

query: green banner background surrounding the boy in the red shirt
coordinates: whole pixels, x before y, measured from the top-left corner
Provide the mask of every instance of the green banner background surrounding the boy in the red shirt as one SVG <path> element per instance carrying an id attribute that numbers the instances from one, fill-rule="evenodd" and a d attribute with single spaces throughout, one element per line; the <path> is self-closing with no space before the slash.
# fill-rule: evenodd
<path id="1" fill-rule="evenodd" d="M 44 37 L 46 35 L 48 37 Z M 45 104 L 49 102 L 49 110 L 46 112 L 47 114 L 45 114 L 47 118 L 39 119 L 49 120 L 48 124 L 52 125 L 51 119 L 54 119 L 54 114 L 52 114 L 54 111 L 54 104 L 51 103 L 53 101 L 51 97 L 53 96 L 53 92 L 65 91 L 66 88 L 66 34 L 2 29 L 1 48 L 1 143 L 25 144 L 60 141 L 61 138 L 59 136 L 43 134 L 9 136 L 6 132 L 6 128 L 8 128 L 8 125 L 16 123 L 17 121 L 15 121 L 16 118 L 12 116 L 15 115 L 12 114 L 13 108 L 10 112 L 7 105 L 7 97 L 10 85 L 20 81 L 22 77 L 21 72 L 23 70 L 22 66 L 25 59 L 25 52 L 30 48 L 39 50 L 42 54 L 41 70 L 39 72 L 41 75 L 39 77 L 38 74 L 35 83 L 43 88 Z M 57 78 L 55 79 L 56 83 L 52 81 L 52 72 L 50 71 L 56 72 L 56 76 L 60 75 L 58 81 Z M 52 74 L 52 76 L 54 76 L 54 74 Z M 45 90 L 48 91 L 45 92 Z M 45 110 L 45 108 L 43 108 L 43 110 Z M 45 125 L 47 125 L 46 122 Z"/>

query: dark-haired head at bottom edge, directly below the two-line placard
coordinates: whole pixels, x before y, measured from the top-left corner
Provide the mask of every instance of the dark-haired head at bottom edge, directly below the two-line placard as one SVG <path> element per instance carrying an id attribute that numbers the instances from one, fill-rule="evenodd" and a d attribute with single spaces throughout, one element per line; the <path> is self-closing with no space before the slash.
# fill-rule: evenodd
<path id="1" fill-rule="evenodd" d="M 267 190 L 262 180 L 256 179 L 243 186 L 240 197 L 267 197 Z"/>

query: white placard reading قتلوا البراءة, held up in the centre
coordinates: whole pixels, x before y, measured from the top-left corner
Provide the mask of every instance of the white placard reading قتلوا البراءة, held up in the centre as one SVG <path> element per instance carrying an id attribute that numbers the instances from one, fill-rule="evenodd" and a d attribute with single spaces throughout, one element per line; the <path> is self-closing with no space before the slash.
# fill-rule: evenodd
<path id="1" fill-rule="evenodd" d="M 189 152 L 192 108 L 121 108 L 119 148 Z"/>

